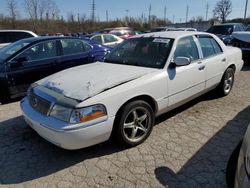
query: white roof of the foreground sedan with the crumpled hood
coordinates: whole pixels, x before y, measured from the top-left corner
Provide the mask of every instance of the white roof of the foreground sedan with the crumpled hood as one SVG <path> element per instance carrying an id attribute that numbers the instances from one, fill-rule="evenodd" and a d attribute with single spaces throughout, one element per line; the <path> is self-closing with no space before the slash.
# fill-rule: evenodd
<path id="1" fill-rule="evenodd" d="M 199 34 L 206 34 L 211 35 L 210 33 L 206 32 L 190 32 L 190 31 L 163 31 L 163 32 L 153 32 L 153 33 L 146 33 L 141 35 L 136 35 L 131 38 L 140 38 L 140 37 L 162 37 L 162 38 L 171 38 L 177 39 L 180 37 L 191 36 L 191 35 L 199 35 Z"/>

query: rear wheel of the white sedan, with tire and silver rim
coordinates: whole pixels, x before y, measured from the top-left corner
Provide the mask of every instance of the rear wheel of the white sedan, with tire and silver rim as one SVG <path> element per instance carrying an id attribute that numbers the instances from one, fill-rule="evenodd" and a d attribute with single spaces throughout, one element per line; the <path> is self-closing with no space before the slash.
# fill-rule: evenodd
<path id="1" fill-rule="evenodd" d="M 227 96 L 231 92 L 233 84 L 234 84 L 234 70 L 232 68 L 227 68 L 221 79 L 221 83 L 217 88 L 219 94 L 221 96 Z"/>

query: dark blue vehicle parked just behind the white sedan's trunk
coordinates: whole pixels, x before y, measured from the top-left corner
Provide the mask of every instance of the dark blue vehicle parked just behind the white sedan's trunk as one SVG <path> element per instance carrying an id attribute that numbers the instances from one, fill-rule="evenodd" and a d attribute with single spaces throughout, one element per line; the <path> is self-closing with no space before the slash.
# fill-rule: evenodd
<path id="1" fill-rule="evenodd" d="M 241 23 L 224 23 L 211 26 L 207 32 L 216 34 L 227 45 L 233 32 L 245 31 L 245 29 Z"/>

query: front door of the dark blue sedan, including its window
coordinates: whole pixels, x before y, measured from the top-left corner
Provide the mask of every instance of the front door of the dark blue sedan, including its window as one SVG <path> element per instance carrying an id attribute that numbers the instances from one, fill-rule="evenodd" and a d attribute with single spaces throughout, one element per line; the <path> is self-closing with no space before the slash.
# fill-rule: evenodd
<path id="1" fill-rule="evenodd" d="M 52 74 L 57 60 L 56 41 L 35 44 L 9 62 L 12 93 L 25 92 L 29 85 Z"/>

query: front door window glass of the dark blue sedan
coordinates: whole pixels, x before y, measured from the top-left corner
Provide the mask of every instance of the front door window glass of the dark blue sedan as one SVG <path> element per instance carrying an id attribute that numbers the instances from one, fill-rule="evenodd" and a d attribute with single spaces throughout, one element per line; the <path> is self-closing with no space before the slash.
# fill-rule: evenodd
<path id="1" fill-rule="evenodd" d="M 25 57 L 29 61 L 47 59 L 55 56 L 57 56 L 56 41 L 36 44 L 19 55 L 19 57 Z"/>

